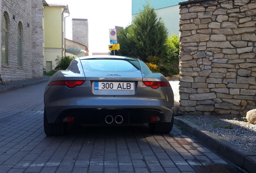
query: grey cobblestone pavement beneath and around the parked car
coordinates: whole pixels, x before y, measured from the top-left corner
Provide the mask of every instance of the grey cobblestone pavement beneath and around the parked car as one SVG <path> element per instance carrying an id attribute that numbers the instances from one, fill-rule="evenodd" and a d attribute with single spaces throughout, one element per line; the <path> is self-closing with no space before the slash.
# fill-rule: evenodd
<path id="1" fill-rule="evenodd" d="M 0 93 L 0 173 L 244 173 L 176 126 L 81 127 L 43 131 L 45 82 Z"/>

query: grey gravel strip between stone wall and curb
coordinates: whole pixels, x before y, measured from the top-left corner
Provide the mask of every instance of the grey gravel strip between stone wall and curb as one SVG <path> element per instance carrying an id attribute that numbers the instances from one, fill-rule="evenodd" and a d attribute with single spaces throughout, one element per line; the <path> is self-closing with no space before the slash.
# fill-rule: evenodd
<path id="1" fill-rule="evenodd" d="M 256 124 L 248 124 L 239 116 L 184 115 L 195 125 L 214 133 L 230 143 L 256 154 Z"/>

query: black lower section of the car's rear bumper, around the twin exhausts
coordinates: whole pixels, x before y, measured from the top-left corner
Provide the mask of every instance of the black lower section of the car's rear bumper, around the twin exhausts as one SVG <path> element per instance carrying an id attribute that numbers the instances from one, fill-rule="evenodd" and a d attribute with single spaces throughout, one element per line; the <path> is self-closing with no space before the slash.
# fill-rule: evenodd
<path id="1" fill-rule="evenodd" d="M 137 124 L 137 123 L 157 123 L 170 122 L 172 118 L 172 110 L 169 113 L 163 113 L 159 109 L 118 109 L 118 108 L 85 108 L 85 109 L 65 109 L 49 123 L 66 123 L 66 117 L 74 117 L 72 123 L 79 124 L 101 124 L 101 125 L 118 125 L 118 124 Z M 113 117 L 113 122 L 106 120 L 107 116 Z M 116 117 L 122 117 L 122 122 L 115 121 Z M 151 117 L 159 117 L 157 121 L 152 121 Z"/>

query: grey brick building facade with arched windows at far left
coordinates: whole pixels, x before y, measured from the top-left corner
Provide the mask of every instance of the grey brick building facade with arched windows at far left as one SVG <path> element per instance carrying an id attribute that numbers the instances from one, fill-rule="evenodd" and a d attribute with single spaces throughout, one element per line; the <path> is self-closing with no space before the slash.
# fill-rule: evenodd
<path id="1" fill-rule="evenodd" d="M 0 35 L 4 39 L 1 39 L 0 74 L 4 82 L 42 77 L 42 10 L 42 0 L 2 1 L 1 20 L 5 20 L 6 28 L 1 22 Z"/>

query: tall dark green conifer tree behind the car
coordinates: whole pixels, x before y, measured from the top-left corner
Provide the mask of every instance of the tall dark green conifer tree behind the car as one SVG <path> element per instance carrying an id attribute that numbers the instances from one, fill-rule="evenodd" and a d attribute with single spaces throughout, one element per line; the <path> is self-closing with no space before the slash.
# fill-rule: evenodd
<path id="1" fill-rule="evenodd" d="M 120 50 L 116 51 L 116 55 L 139 58 L 145 62 L 149 56 L 162 58 L 168 52 L 165 44 L 167 36 L 165 24 L 147 2 L 132 24 L 118 33 Z"/>

